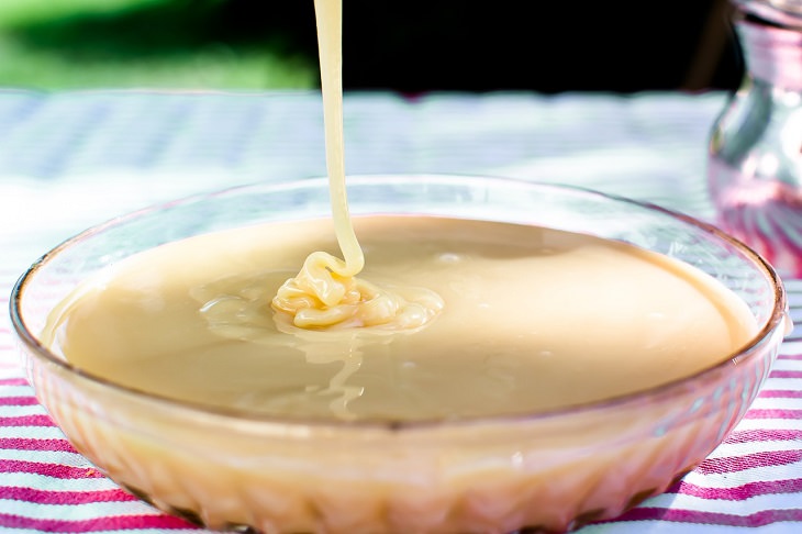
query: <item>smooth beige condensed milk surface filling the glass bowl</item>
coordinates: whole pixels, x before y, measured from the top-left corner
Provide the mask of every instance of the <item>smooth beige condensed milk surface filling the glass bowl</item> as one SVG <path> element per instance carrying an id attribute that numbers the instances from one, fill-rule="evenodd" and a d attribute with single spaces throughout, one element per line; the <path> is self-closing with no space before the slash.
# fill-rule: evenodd
<path id="1" fill-rule="evenodd" d="M 143 391 L 280 418 L 419 421 L 532 413 L 665 383 L 756 332 L 746 304 L 686 264 L 556 230 L 434 216 L 355 218 L 363 276 L 428 288 L 419 330 L 298 329 L 270 307 L 325 220 L 141 253 L 83 285 L 45 338 Z"/>

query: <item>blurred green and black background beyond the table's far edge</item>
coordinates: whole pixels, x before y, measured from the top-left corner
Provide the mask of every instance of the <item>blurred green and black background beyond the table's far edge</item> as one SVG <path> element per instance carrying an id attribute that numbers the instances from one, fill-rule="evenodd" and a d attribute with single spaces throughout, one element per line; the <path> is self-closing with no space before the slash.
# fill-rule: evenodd
<path id="1" fill-rule="evenodd" d="M 733 89 L 727 0 L 345 0 L 346 89 Z M 313 0 L 0 0 L 0 87 L 318 87 Z"/>

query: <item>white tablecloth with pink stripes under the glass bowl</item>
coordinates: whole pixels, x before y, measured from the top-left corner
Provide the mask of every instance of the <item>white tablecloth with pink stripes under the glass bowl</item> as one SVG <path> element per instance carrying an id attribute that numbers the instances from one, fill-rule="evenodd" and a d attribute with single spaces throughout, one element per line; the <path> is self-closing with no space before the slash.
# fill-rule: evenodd
<path id="1" fill-rule="evenodd" d="M 347 171 L 558 181 L 710 218 L 704 166 L 724 94 L 346 96 Z M 315 93 L 0 92 L 0 304 L 41 254 L 147 204 L 324 175 Z M 787 280 L 802 324 L 802 281 Z M 802 532 L 802 329 L 744 421 L 667 493 L 597 533 Z M 198 532 L 76 454 L 0 319 L 0 530 Z M 751 531 L 751 529 L 750 529 Z"/>

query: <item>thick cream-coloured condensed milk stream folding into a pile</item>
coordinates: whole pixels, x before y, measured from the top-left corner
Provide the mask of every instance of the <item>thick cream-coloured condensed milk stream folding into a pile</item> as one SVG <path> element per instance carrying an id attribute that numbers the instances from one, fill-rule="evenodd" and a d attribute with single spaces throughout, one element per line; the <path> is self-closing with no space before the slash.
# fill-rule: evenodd
<path id="1" fill-rule="evenodd" d="M 379 288 L 356 278 L 365 266 L 348 213 L 343 138 L 343 2 L 315 0 L 318 46 L 323 92 L 326 169 L 332 219 L 343 259 L 325 252 L 307 257 L 298 276 L 285 282 L 272 308 L 301 329 L 419 329 L 443 309 L 443 300 L 423 288 Z"/>

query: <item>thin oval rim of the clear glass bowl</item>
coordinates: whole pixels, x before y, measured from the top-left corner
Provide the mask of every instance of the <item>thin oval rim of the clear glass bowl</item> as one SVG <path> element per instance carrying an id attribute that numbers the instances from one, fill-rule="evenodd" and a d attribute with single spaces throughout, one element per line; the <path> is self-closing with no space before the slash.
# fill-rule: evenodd
<path id="1" fill-rule="evenodd" d="M 643 389 L 643 390 L 636 390 L 631 393 L 612 397 L 608 399 L 603 399 L 600 401 L 592 401 L 587 403 L 580 403 L 580 404 L 571 404 L 566 407 L 560 407 L 556 409 L 550 410 L 542 410 L 531 413 L 516 413 L 516 414 L 499 414 L 499 415 L 492 415 L 492 416 L 477 416 L 477 418 L 463 418 L 463 419 L 455 419 L 455 420 L 448 420 L 448 419 L 435 419 L 435 420 L 420 420 L 420 421 L 331 421 L 331 420 L 315 420 L 315 419 L 297 419 L 297 418 L 281 418 L 276 415 L 264 415 L 264 414 L 256 414 L 253 412 L 248 412 L 245 410 L 237 410 L 237 409 L 224 409 L 224 408 L 218 408 L 218 407 L 210 407 L 203 403 L 198 402 L 190 402 L 190 401 L 182 401 L 178 399 L 172 399 L 169 397 L 164 397 L 146 391 L 142 391 L 135 388 L 130 388 L 126 386 L 119 385 L 112 380 L 104 379 L 102 377 L 94 376 L 92 374 L 89 374 L 87 371 L 83 371 L 82 369 L 73 366 L 65 359 L 56 356 L 53 352 L 51 352 L 46 346 L 44 346 L 37 336 L 31 332 L 27 326 L 25 325 L 25 321 L 22 318 L 22 310 L 21 304 L 23 300 L 23 293 L 25 291 L 25 286 L 27 281 L 32 279 L 33 276 L 36 275 L 36 272 L 45 267 L 48 262 L 51 262 L 53 258 L 55 258 L 60 252 L 69 248 L 71 245 L 82 242 L 83 240 L 91 238 L 92 235 L 97 233 L 102 233 L 104 230 L 108 230 L 113 226 L 125 224 L 130 220 L 137 219 L 140 216 L 146 216 L 149 214 L 155 214 L 161 209 L 168 208 L 168 207 L 176 207 L 176 205 L 182 205 L 191 202 L 213 199 L 219 196 L 225 196 L 225 194 L 236 194 L 241 191 L 246 191 L 248 189 L 258 189 L 260 193 L 267 194 L 275 191 L 281 191 L 287 189 L 299 189 L 299 188 L 327 188 L 327 179 L 326 178 L 305 178 L 305 179 L 294 179 L 294 180 L 288 180 L 288 181 L 280 181 L 280 182 L 255 182 L 255 183 L 246 183 L 246 185 L 238 185 L 212 192 L 204 192 L 199 194 L 192 194 L 189 197 L 185 197 L 178 200 L 174 201 L 167 201 L 167 202 L 160 202 L 153 205 L 149 205 L 147 208 L 136 210 L 130 213 L 125 213 L 119 216 L 115 216 L 113 219 L 110 219 L 105 222 L 102 222 L 100 224 L 93 225 L 69 238 L 60 243 L 59 245 L 52 248 L 49 252 L 45 253 L 43 256 L 41 256 L 37 260 L 35 260 L 16 280 L 14 283 L 14 287 L 11 291 L 11 296 L 9 299 L 9 311 L 11 316 L 11 323 L 12 327 L 18 335 L 19 340 L 26 346 L 27 353 L 35 355 L 35 357 L 40 358 L 43 363 L 54 365 L 56 366 L 60 371 L 65 372 L 66 375 L 78 379 L 78 380 L 88 380 L 89 382 L 93 383 L 94 386 L 99 386 L 101 388 L 108 388 L 113 392 L 123 394 L 123 396 L 131 396 L 137 400 L 144 400 L 147 402 L 154 402 L 156 404 L 159 404 L 164 408 L 170 408 L 174 410 L 179 410 L 183 413 L 183 415 L 187 416 L 212 416 L 212 418 L 223 418 L 225 420 L 235 421 L 235 422 L 248 422 L 253 424 L 277 424 L 282 426 L 314 426 L 315 429 L 332 429 L 336 430 L 337 432 L 343 432 L 345 429 L 352 427 L 354 431 L 358 430 L 390 430 L 392 432 L 399 432 L 399 431 L 414 431 L 414 430 L 425 430 L 426 427 L 447 427 L 447 426 L 464 426 L 464 425 L 470 425 L 470 424 L 477 424 L 477 423 L 526 423 L 526 422 L 535 422 L 537 420 L 548 420 L 554 418 L 561 418 L 561 416 L 568 416 L 573 414 L 584 414 L 590 412 L 602 412 L 605 410 L 612 410 L 621 405 L 625 404 L 634 404 L 646 400 L 654 400 L 656 398 L 661 397 L 670 397 L 671 392 L 675 390 L 678 390 L 680 388 L 687 388 L 692 386 L 697 381 L 703 381 L 708 377 L 712 377 L 719 372 L 726 372 L 726 367 L 731 365 L 733 359 L 743 359 L 743 358 L 749 358 L 749 357 L 757 357 L 756 353 L 759 354 L 760 352 L 758 348 L 766 343 L 772 334 L 777 331 L 778 327 L 782 327 L 784 324 L 784 321 L 787 321 L 788 318 L 788 301 L 787 301 L 787 293 L 784 290 L 784 287 L 782 285 L 782 281 L 775 270 L 775 268 L 766 260 L 764 259 L 759 254 L 757 254 L 755 251 L 753 251 L 749 246 L 740 242 L 739 240 L 726 234 L 725 232 L 719 230 L 713 224 L 709 224 L 706 222 L 703 222 L 697 218 L 693 218 L 691 215 L 687 215 L 684 213 L 681 213 L 679 211 L 670 210 L 664 207 L 660 207 L 658 204 L 643 201 L 643 200 L 634 200 L 626 197 L 609 193 L 609 192 L 601 192 L 591 188 L 576 186 L 576 185 L 566 185 L 566 183 L 555 183 L 555 182 L 547 182 L 547 181 L 531 181 L 531 180 L 521 180 L 521 179 L 514 179 L 514 178 L 500 178 L 500 177 L 491 177 L 491 176 L 482 176 L 482 175 L 466 175 L 466 174 L 387 174 L 387 175 L 348 175 L 348 187 L 353 186 L 371 186 L 371 185 L 387 185 L 388 180 L 397 180 L 394 185 L 401 185 L 403 186 L 405 182 L 413 182 L 419 183 L 421 180 L 427 180 L 431 182 L 442 183 L 442 185 L 465 185 L 465 180 L 470 180 L 476 183 L 482 183 L 492 186 L 492 183 L 499 183 L 499 185 L 505 185 L 505 186 L 515 186 L 515 187 L 523 187 L 526 189 L 542 189 L 542 190 L 553 190 L 553 191 L 562 191 L 562 192 L 572 192 L 576 194 L 582 194 L 588 198 L 595 198 L 599 201 L 603 202 L 615 202 L 620 204 L 628 204 L 632 208 L 635 209 L 644 209 L 649 212 L 657 213 L 660 216 L 668 216 L 670 219 L 673 219 L 676 221 L 680 221 L 683 224 L 687 224 L 698 231 L 701 231 L 709 236 L 712 236 L 714 238 L 721 240 L 728 244 L 732 247 L 735 247 L 738 249 L 749 262 L 754 264 L 758 268 L 758 270 L 761 270 L 770 286 L 773 288 L 773 305 L 770 315 L 768 316 L 765 324 L 760 327 L 760 330 L 749 340 L 749 342 L 744 345 L 739 351 L 728 355 L 727 357 L 723 358 L 722 361 L 714 364 L 710 367 L 706 367 L 697 374 L 686 376 L 682 378 L 679 378 L 677 380 L 672 380 L 669 382 L 660 383 L 656 387 Z M 459 180 L 459 181 L 457 181 Z"/>

